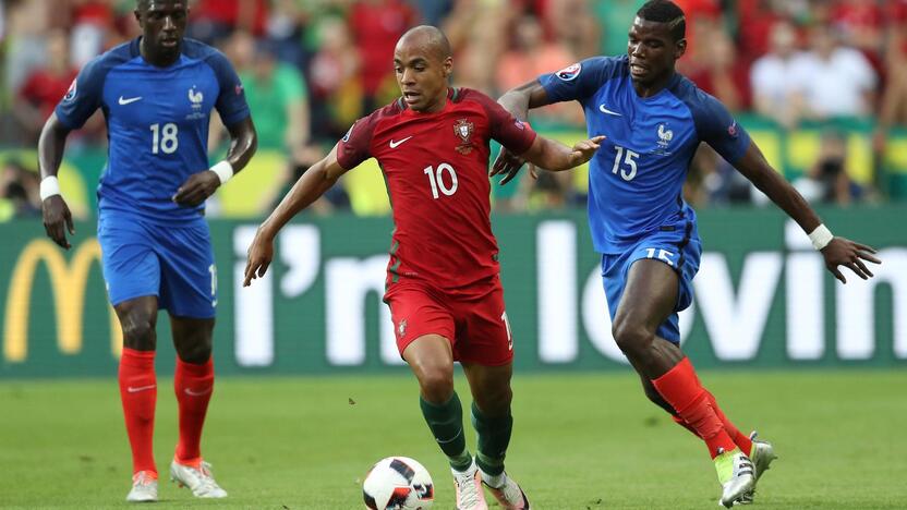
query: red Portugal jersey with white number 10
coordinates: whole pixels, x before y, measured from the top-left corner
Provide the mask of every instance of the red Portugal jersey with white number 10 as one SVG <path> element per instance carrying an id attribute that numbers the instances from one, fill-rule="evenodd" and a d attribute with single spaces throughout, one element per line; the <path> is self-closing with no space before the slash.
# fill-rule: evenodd
<path id="1" fill-rule="evenodd" d="M 374 157 L 384 172 L 396 227 L 388 284 L 411 279 L 469 293 L 498 274 L 492 138 L 523 154 L 535 133 L 484 94 L 451 88 L 442 111 L 415 112 L 398 99 L 356 121 L 337 145 L 341 167 Z"/>

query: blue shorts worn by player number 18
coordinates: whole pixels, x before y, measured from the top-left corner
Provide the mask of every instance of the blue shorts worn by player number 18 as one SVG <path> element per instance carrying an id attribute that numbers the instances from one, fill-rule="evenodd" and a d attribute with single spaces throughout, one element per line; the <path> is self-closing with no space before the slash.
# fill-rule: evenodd
<path id="1" fill-rule="evenodd" d="M 101 211 L 98 242 L 111 304 L 156 295 L 171 315 L 215 316 L 217 269 L 204 218 L 162 226 Z"/>

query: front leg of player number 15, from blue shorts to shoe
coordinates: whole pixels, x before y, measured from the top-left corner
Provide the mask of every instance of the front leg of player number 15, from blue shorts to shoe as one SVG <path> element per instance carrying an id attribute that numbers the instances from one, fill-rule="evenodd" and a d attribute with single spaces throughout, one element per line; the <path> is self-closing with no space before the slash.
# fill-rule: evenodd
<path id="1" fill-rule="evenodd" d="M 725 430 L 710 393 L 680 348 L 655 333 L 674 312 L 678 286 L 678 276 L 668 265 L 637 260 L 628 271 L 615 314 L 614 338 L 637 372 L 652 381 L 664 400 L 705 441 L 722 484 L 721 503 L 729 507 L 754 486 L 752 462 Z"/>

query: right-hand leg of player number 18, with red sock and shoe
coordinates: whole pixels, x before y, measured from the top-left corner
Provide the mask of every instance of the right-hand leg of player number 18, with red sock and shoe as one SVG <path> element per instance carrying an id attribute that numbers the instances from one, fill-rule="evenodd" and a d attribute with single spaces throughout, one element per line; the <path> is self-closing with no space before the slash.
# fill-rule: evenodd
<path id="1" fill-rule="evenodd" d="M 214 391 L 214 318 L 171 315 L 170 325 L 177 350 L 173 389 L 180 415 L 180 438 L 170 463 L 170 478 L 181 487 L 189 487 L 196 497 L 226 498 L 227 491 L 215 482 L 210 464 L 202 459 L 201 448 L 202 429 Z"/>

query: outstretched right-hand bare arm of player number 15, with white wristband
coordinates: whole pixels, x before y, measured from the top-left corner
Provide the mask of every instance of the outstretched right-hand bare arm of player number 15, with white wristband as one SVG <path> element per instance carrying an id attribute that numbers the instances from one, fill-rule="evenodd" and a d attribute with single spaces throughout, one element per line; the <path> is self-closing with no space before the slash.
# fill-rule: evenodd
<path id="1" fill-rule="evenodd" d="M 875 250 L 848 239 L 833 236 L 800 193 L 772 169 L 755 143 L 750 143 L 735 167 L 809 234 L 813 246 L 822 252 L 825 267 L 842 283 L 846 283 L 847 280 L 838 266 L 849 268 L 863 280 L 872 277 L 872 271 L 866 267 L 863 260 L 881 264 L 881 260 L 872 256 Z"/>

